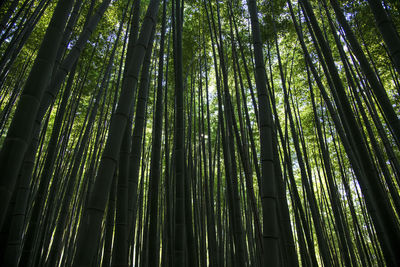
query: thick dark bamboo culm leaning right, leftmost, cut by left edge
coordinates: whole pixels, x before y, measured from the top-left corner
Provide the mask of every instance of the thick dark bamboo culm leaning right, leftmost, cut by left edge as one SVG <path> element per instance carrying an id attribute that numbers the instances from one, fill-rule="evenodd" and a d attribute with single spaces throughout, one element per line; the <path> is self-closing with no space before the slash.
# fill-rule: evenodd
<path id="1" fill-rule="evenodd" d="M 63 0 L 57 3 L 1 148 L 1 227 L 4 224 L 10 199 L 17 183 L 17 175 L 30 142 L 30 134 L 44 89 L 50 82 L 57 50 L 73 2 L 73 0 Z"/>

